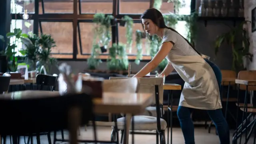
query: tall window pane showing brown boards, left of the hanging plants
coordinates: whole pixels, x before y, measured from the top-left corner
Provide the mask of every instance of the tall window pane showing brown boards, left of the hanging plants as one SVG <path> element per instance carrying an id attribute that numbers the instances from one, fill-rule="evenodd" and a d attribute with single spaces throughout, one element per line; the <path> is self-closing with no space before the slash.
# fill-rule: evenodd
<path id="1" fill-rule="evenodd" d="M 53 54 L 73 54 L 72 22 L 40 22 L 43 34 L 50 34 L 56 42 Z"/>

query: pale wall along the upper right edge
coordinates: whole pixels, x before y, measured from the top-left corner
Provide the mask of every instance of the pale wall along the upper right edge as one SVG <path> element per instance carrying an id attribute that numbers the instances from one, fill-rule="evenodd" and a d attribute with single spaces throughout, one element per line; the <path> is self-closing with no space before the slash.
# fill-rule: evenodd
<path id="1" fill-rule="evenodd" d="M 244 0 L 244 17 L 248 21 L 252 21 L 252 7 L 256 7 L 256 0 Z M 251 23 L 248 23 L 246 28 L 250 37 L 250 52 L 254 55 L 252 62 L 248 62 L 248 69 L 256 70 L 256 32 L 252 33 Z"/>

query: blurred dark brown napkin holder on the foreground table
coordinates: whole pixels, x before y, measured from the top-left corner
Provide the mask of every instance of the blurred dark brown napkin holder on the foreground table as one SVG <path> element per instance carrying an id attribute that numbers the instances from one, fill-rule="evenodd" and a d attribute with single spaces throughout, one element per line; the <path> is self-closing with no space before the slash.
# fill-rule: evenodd
<path id="1" fill-rule="evenodd" d="M 93 98 L 102 98 L 104 78 L 86 77 L 82 80 L 82 92 L 92 95 Z"/>

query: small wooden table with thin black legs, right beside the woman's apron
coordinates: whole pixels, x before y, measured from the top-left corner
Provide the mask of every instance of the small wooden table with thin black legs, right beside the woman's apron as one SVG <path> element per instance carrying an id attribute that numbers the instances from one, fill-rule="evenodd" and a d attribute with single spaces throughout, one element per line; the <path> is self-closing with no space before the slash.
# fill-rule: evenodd
<path id="1" fill-rule="evenodd" d="M 171 136 L 170 143 L 172 144 L 172 90 L 181 90 L 181 85 L 179 84 L 164 84 L 164 90 L 168 90 L 168 105 L 167 105 L 167 124 L 169 124 L 169 110 L 171 111 Z M 170 97 L 171 97 L 171 106 L 170 106 Z M 169 143 L 169 125 L 167 125 L 167 144 Z"/>

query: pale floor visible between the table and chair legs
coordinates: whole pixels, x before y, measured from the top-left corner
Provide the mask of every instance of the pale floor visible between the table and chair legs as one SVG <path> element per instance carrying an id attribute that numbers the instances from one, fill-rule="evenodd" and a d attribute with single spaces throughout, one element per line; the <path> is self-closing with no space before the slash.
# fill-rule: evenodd
<path id="1" fill-rule="evenodd" d="M 109 127 L 98 127 L 98 140 L 110 140 L 110 133 L 111 128 Z M 230 138 L 232 137 L 232 132 L 230 132 Z M 68 132 L 64 132 L 65 138 L 68 139 Z M 53 135 L 52 135 L 53 136 Z M 60 137 L 60 132 L 58 132 L 58 138 Z M 166 132 L 167 136 L 167 132 Z M 84 128 L 80 128 L 80 136 L 79 139 L 86 139 L 86 140 L 92 140 L 93 133 L 92 128 L 88 127 L 87 131 L 85 131 Z M 41 144 L 48 144 L 47 136 L 41 136 L 40 137 Z M 131 135 L 130 135 L 131 138 Z M 27 138 L 26 138 L 27 140 Z M 135 144 L 156 144 L 156 136 L 154 135 L 135 135 L 134 136 L 134 142 Z M 166 137 L 167 140 L 167 137 Z M 244 138 L 242 138 L 242 142 L 244 141 Z M 33 143 L 35 144 L 36 138 L 33 139 Z M 184 144 L 184 138 L 182 136 L 182 131 L 180 128 L 174 128 L 173 129 L 173 144 Z M 218 136 L 215 134 L 215 129 L 212 128 L 211 133 L 208 133 L 208 130 L 204 128 L 195 128 L 195 142 L 196 144 L 220 144 Z M 62 142 L 57 142 L 57 144 L 60 144 Z M 131 140 L 130 142 L 131 143 Z M 9 138 L 7 138 L 7 143 L 10 144 Z M 24 137 L 21 137 L 20 144 L 24 144 Z M 64 143 L 65 144 L 65 143 Z M 166 143 L 167 144 L 167 143 Z M 170 144 L 170 142 L 169 142 Z M 248 144 L 253 144 L 253 138 L 250 139 Z"/>

